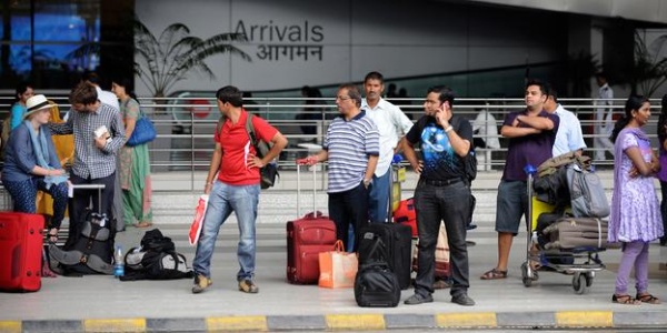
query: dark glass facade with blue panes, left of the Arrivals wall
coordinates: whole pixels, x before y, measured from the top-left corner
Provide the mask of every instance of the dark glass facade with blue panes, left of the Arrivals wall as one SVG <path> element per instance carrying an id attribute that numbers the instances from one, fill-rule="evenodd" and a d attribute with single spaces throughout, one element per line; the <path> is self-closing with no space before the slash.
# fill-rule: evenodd
<path id="1" fill-rule="evenodd" d="M 133 6 L 115 2 L 116 8 Z M 69 89 L 84 71 L 100 70 L 103 43 L 120 42 L 102 37 L 123 21 L 117 19 L 118 11 L 102 14 L 102 0 L 0 0 L 0 89 L 20 81 Z"/>

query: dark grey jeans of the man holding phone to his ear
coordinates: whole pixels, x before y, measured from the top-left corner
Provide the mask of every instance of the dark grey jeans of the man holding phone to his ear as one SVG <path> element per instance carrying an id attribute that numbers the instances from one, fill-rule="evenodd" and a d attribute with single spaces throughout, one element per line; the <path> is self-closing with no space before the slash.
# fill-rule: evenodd
<path id="1" fill-rule="evenodd" d="M 436 186 L 419 182 L 415 189 L 415 210 L 419 232 L 419 262 L 415 293 L 434 293 L 436 244 L 440 221 L 445 221 L 449 243 L 452 285 L 450 294 L 467 294 L 469 283 L 466 224 L 470 213 L 470 188 L 462 181 Z"/>

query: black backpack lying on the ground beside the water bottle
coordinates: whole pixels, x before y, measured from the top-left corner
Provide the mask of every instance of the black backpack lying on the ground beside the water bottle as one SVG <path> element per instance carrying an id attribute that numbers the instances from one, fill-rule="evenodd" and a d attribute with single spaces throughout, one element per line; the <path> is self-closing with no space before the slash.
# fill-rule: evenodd
<path id="1" fill-rule="evenodd" d="M 171 239 L 163 236 L 159 229 L 147 231 L 141 239 L 141 246 L 128 251 L 125 266 L 121 281 L 175 280 L 195 276 L 186 256 L 176 252 Z"/>

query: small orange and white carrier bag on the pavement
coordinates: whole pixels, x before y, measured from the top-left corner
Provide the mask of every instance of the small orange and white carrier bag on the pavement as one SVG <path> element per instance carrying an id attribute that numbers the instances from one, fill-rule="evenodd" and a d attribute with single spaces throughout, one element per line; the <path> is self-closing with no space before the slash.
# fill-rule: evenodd
<path id="1" fill-rule="evenodd" d="M 320 278 L 323 287 L 351 287 L 355 285 L 358 261 L 356 253 L 346 253 L 342 241 L 336 241 L 334 251 L 319 254 Z"/>

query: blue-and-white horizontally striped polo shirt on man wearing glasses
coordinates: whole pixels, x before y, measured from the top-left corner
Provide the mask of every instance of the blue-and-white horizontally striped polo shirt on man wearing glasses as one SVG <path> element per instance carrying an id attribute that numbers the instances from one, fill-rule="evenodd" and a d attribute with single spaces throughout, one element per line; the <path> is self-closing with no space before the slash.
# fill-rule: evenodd
<path id="1" fill-rule="evenodd" d="M 345 192 L 361 183 L 368 158 L 379 155 L 380 134 L 372 120 L 361 110 L 350 121 L 342 117 L 334 119 L 322 148 L 327 150 L 329 160 L 328 193 Z"/>

